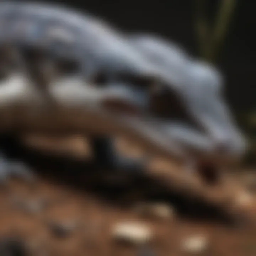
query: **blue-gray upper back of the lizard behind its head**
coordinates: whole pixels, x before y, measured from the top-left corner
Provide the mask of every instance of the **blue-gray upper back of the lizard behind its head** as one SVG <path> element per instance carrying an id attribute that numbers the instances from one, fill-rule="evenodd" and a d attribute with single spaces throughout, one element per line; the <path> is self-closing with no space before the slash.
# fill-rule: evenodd
<path id="1" fill-rule="evenodd" d="M 121 82 L 121 75 L 143 78 L 155 73 L 116 30 L 88 14 L 54 5 L 1 2 L 0 24 L 0 42 L 76 60 L 77 74 L 87 82 L 98 73 L 109 83 Z"/>

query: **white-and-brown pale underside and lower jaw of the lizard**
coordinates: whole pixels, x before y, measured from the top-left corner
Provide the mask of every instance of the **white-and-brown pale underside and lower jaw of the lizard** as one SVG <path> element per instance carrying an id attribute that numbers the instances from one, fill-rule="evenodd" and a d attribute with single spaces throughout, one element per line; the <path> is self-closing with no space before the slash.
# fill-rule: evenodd
<path id="1" fill-rule="evenodd" d="M 123 135 L 152 154 L 176 160 L 185 158 L 173 138 L 162 133 L 154 118 L 145 115 L 141 106 L 134 102 L 131 91 L 129 94 L 111 87 L 93 87 L 79 78 L 53 81 L 49 89 L 58 103 L 58 107 L 50 110 L 47 107 L 42 109 L 42 94 L 33 89 L 24 75 L 13 74 L 2 82 L 0 130 L 66 135 L 86 133 L 103 137 Z M 120 102 L 133 111 L 108 104 L 113 102 Z"/>

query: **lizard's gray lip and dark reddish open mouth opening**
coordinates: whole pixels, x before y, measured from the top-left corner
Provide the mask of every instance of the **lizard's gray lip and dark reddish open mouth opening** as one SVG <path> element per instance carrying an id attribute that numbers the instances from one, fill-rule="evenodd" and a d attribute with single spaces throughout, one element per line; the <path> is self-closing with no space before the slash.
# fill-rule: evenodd
<path id="1" fill-rule="evenodd" d="M 162 124 L 161 127 L 178 145 L 186 149 L 187 156 L 195 163 L 193 170 L 207 185 L 218 184 L 222 176 L 220 172 L 240 161 L 240 155 L 229 150 L 230 144 L 223 145 L 227 148 L 217 148 L 210 137 L 192 126 L 169 122 Z"/>

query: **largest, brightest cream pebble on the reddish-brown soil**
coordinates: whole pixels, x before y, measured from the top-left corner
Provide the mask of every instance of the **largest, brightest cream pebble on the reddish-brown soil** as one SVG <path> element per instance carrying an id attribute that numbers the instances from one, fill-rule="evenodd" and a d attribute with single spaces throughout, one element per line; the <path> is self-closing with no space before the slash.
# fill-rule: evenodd
<path id="1" fill-rule="evenodd" d="M 153 233 L 148 226 L 135 222 L 116 224 L 112 229 L 112 236 L 116 240 L 137 245 L 146 244 L 153 239 Z"/>

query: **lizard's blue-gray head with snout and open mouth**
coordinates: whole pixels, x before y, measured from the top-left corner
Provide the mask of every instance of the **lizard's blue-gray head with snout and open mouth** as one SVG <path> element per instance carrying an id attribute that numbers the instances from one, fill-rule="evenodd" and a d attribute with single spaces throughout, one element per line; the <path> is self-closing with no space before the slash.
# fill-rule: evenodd
<path id="1" fill-rule="evenodd" d="M 223 98 L 222 75 L 214 66 L 159 36 L 132 34 L 128 40 L 162 70 L 166 81 L 164 113 L 169 115 L 166 132 L 189 151 L 186 170 L 199 172 L 209 183 L 218 182 L 219 167 L 239 162 L 247 148 Z M 172 111 L 171 115 L 166 110 Z M 174 112 L 182 114 L 173 116 Z M 211 157 L 207 159 L 208 150 Z"/>

